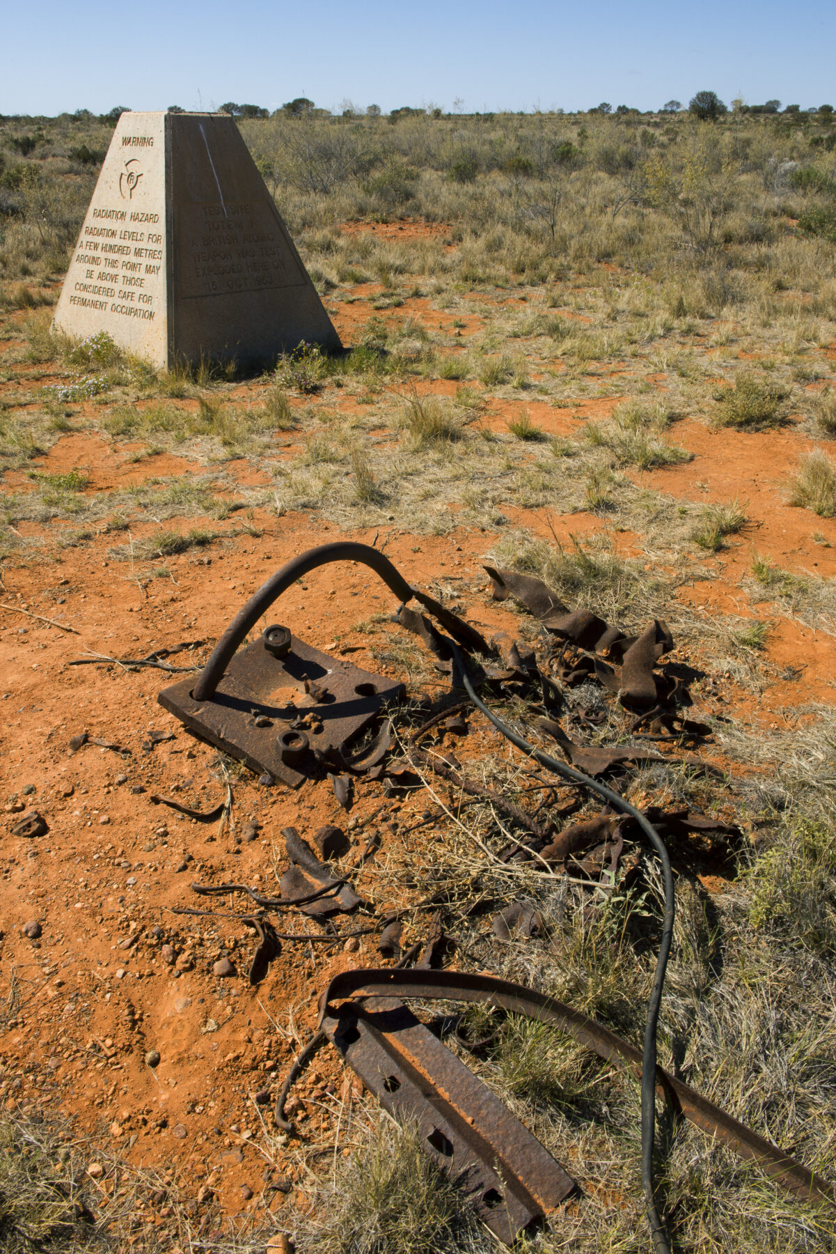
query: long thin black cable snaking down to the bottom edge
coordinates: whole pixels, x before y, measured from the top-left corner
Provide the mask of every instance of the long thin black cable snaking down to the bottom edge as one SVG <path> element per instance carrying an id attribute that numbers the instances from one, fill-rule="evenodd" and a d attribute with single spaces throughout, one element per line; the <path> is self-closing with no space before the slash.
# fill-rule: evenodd
<path id="1" fill-rule="evenodd" d="M 648 1223 L 651 1225 L 653 1248 L 657 1254 L 671 1254 L 671 1245 L 668 1244 L 668 1238 L 656 1204 L 656 1188 L 653 1183 L 657 1031 L 664 973 L 668 966 L 668 957 L 671 954 L 671 944 L 673 942 L 673 920 L 676 912 L 673 872 L 671 869 L 668 850 L 653 824 L 648 823 L 642 811 L 634 805 L 630 805 L 629 801 L 624 800 L 619 793 L 614 793 L 612 789 L 607 788 L 605 784 L 599 784 L 589 775 L 584 775 L 583 771 L 575 770 L 574 766 L 568 766 L 556 757 L 551 757 L 550 754 L 543 752 L 541 749 L 536 749 L 533 744 L 530 744 L 530 741 L 525 740 L 524 736 L 520 736 L 519 732 L 514 731 L 513 727 L 509 727 L 506 722 L 503 722 L 503 720 L 499 719 L 493 710 L 489 710 L 485 702 L 480 700 L 473 686 L 461 652 L 452 643 L 452 641 L 447 640 L 447 645 L 452 652 L 465 692 L 476 709 L 481 710 L 485 717 L 493 722 L 498 731 L 501 731 L 501 734 L 510 740 L 513 745 L 516 745 L 521 752 L 536 759 L 538 762 L 548 767 L 548 770 L 554 771 L 555 775 L 562 775 L 573 784 L 585 785 L 585 788 L 590 789 L 590 791 L 597 793 L 598 796 L 603 798 L 610 805 L 614 805 L 615 809 L 622 811 L 622 814 L 629 814 L 632 819 L 635 819 L 639 828 L 659 855 L 659 861 L 662 864 L 662 879 L 664 884 L 664 919 L 662 923 L 662 939 L 659 942 L 659 953 L 656 962 L 656 974 L 653 977 L 653 987 L 651 988 L 651 997 L 648 999 L 647 1023 L 644 1027 L 644 1056 L 642 1060 L 642 1185 L 644 1188 L 644 1201 L 647 1206 Z"/>

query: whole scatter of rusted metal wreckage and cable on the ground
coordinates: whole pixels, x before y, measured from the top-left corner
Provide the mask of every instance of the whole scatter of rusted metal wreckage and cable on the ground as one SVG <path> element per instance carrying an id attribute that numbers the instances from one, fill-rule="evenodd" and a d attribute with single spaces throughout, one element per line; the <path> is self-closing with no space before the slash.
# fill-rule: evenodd
<path id="1" fill-rule="evenodd" d="M 400 606 L 392 621 L 420 638 L 436 671 L 449 678 L 441 698 L 407 705 L 402 683 L 321 652 L 283 626 L 268 626 L 246 643 L 283 591 L 316 567 L 337 561 L 365 563 L 395 593 Z M 277 1125 L 293 1130 L 285 1110 L 291 1087 L 330 1041 L 396 1120 L 417 1126 L 426 1152 L 450 1171 L 496 1236 L 513 1244 L 520 1230 L 546 1221 L 575 1190 L 575 1181 L 405 1004 L 409 998 L 483 1002 L 499 1013 L 548 1023 L 640 1080 L 643 1189 L 657 1251 L 669 1249 L 654 1185 L 654 1154 L 661 1152 L 654 1145 L 657 1099 L 707 1136 L 757 1161 L 790 1194 L 832 1206 L 836 1193 L 827 1181 L 657 1063 L 657 1020 L 676 904 L 669 846 L 677 850 L 687 844 L 698 858 L 701 850 L 722 853 L 741 836 L 733 825 L 687 808 L 645 804 L 637 809 L 613 784 L 632 770 L 659 762 L 712 770 L 692 756 L 711 727 L 688 716 L 687 676 L 668 661 L 674 647 L 668 627 L 654 619 L 640 635 L 627 636 L 588 611 L 565 606 L 540 579 L 493 567 L 486 572 L 496 601 L 514 598 L 539 623 L 536 648 L 509 636 L 488 641 L 439 601 L 412 588 L 379 551 L 341 542 L 303 553 L 268 579 L 224 632 L 197 680 L 193 673 L 178 678 L 160 692 L 159 701 L 194 734 L 243 761 L 264 785 L 278 781 L 296 789 L 305 780 L 327 779 L 346 809 L 367 782 L 382 784 L 387 795 L 405 795 L 439 777 L 451 785 L 460 809 L 486 804 L 501 816 L 511 834 L 498 854 L 501 861 L 570 877 L 588 890 L 588 912 L 627 888 L 639 874 L 643 851 L 652 850 L 662 870 L 664 914 L 644 1050 L 536 989 L 452 969 L 455 943 L 445 934 L 440 914 L 434 915 L 424 942 L 405 952 L 402 917 L 407 912 L 376 915 L 352 887 L 353 875 L 375 856 L 380 836 L 372 836 L 346 865 L 350 843 L 341 828 L 323 826 L 306 839 L 288 826 L 282 833 L 287 869 L 276 895 L 246 884 L 196 883 L 192 889 L 206 904 L 183 904 L 177 913 L 219 914 L 249 929 L 254 934 L 252 984 L 264 978 L 285 944 L 332 948 L 377 935 L 381 958 L 394 966 L 348 971 L 322 992 L 318 1032 L 278 1095 Z M 160 651 L 139 665 L 177 671 L 167 656 Z M 583 703 L 569 709 L 568 690 L 580 690 Z M 516 712 L 513 724 L 495 712 L 499 703 Z M 535 805 L 521 805 L 486 788 L 449 749 L 426 747 L 430 732 L 465 736 L 476 716 L 486 719 L 528 760 Z M 602 744 L 602 729 L 612 729 L 615 716 L 618 739 L 629 744 Z M 676 746 L 678 756 L 671 749 L 661 754 L 661 744 Z M 590 799 L 598 803 L 598 813 L 589 813 Z M 154 795 L 152 801 L 198 821 L 213 821 L 228 810 L 232 795 L 228 790 L 227 800 L 206 813 L 170 798 Z M 442 813 L 444 808 L 426 811 L 429 819 L 415 826 Z M 39 819 L 36 814 L 21 819 L 24 834 L 34 833 Z M 212 909 L 213 898 L 236 897 L 242 899 L 241 913 Z M 431 894 L 422 903 L 427 908 L 441 904 L 441 897 Z M 534 899 L 498 904 L 493 915 L 498 938 L 525 940 L 544 930 Z M 305 930 L 282 928 L 281 918 L 288 912 L 305 915 Z M 464 1030 L 457 1030 L 456 1038 L 466 1048 L 486 1045 L 470 1041 Z"/>

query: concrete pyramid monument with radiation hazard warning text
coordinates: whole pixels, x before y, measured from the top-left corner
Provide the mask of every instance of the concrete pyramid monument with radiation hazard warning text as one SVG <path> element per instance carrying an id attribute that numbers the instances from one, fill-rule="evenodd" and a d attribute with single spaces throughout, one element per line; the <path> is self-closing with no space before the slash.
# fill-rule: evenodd
<path id="1" fill-rule="evenodd" d="M 340 339 L 232 118 L 123 113 L 54 326 L 158 369 Z"/>

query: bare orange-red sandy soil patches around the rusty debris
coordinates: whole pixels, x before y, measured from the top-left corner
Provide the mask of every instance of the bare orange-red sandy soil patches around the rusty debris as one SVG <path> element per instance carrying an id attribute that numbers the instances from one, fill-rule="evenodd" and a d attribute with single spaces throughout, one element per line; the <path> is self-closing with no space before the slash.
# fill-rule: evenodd
<path id="1" fill-rule="evenodd" d="M 424 227 L 426 233 L 446 229 L 431 223 Z M 384 227 L 357 223 L 346 229 Z M 401 227 L 389 223 L 385 229 L 400 232 Z M 341 334 L 350 339 L 352 327 L 370 312 L 365 301 L 341 305 Z M 454 321 L 450 315 L 429 311 L 422 298 L 396 311 L 399 317 L 407 312 L 421 314 L 427 324 L 431 320 L 445 329 Z M 469 319 L 465 334 L 473 334 L 478 325 L 479 319 Z M 455 384 L 442 381 L 417 386 L 437 394 L 455 390 Z M 579 418 L 604 418 L 617 401 L 599 398 L 564 409 L 536 400 L 514 406 L 491 403 L 485 420 L 504 430 L 508 418 L 525 408 L 549 434 L 572 435 L 579 430 Z M 768 662 L 778 668 L 800 662 L 805 667 L 801 682 L 776 680 L 760 697 L 745 695 L 731 681 L 723 687 L 721 677 L 719 688 L 709 687 L 718 695 L 696 693 L 696 716 L 702 710 L 752 717 L 768 735 L 771 727 L 785 726 L 777 709 L 835 700 L 836 642 L 825 632 L 780 618 L 773 606 L 750 603 L 739 583 L 753 552 L 793 572 L 833 577 L 836 522 L 792 509 L 783 500 L 788 472 L 810 443 L 792 428 L 741 434 L 683 421 L 673 429 L 672 439 L 693 451 L 694 460 L 635 475 L 635 480 L 687 503 L 738 498 L 751 519 L 742 537 L 732 537 L 726 551 L 706 558 L 704 564 L 716 572 L 713 578 L 682 588 L 678 596 L 707 616 L 722 611 L 770 618 L 775 626 Z M 188 460 L 168 454 L 134 464 L 125 458 L 129 451 L 124 445 L 115 450 L 95 435 L 68 435 L 46 456 L 35 459 L 31 469 L 84 469 L 90 475 L 90 492 L 149 477 L 199 473 Z M 259 482 L 246 463 L 227 463 L 227 470 L 242 483 Z M 26 483 L 24 473 L 10 472 L 3 488 L 21 489 Z M 519 510 L 514 520 L 544 538 L 551 538 L 554 528 L 565 542 L 572 534 L 587 535 L 607 527 L 605 520 L 589 514 L 546 518 Z M 348 825 L 350 863 L 372 831 L 382 838 L 380 858 L 409 858 L 410 848 L 427 839 L 421 831 L 404 840 L 397 835 L 399 824 L 409 826 L 425 809 L 427 795 L 419 793 L 399 803 L 386 799 L 381 786 L 371 782 L 357 786 L 348 818 L 327 784 L 305 784 L 293 793 L 282 786 L 262 788 L 244 772 L 233 781 L 232 825 L 223 833 L 218 824 L 198 824 L 153 805 L 149 798 L 155 793 L 175 795 L 199 809 L 219 803 L 223 784 L 213 765 L 214 750 L 158 706 L 158 692 L 172 682 L 160 671 L 68 665 L 93 652 L 143 657 L 182 640 L 211 645 L 278 566 L 342 534 L 300 515 L 277 520 L 257 513 L 254 522 L 263 527 L 258 539 L 238 535 L 213 545 L 203 557 L 189 553 L 167 559 L 168 579 L 137 579 L 128 563 L 109 556 L 113 537 L 102 535 L 83 549 L 65 548 L 56 558 L 44 556 L 28 567 L 8 566 L 0 588 L 0 700 L 6 716 L 0 766 L 6 811 L 0 863 L 5 986 L 0 991 L 5 996 L 14 982 L 19 996 L 13 1023 L 0 1033 L 5 1066 L 0 1100 L 9 1110 L 71 1114 L 80 1131 L 112 1137 L 114 1149 L 132 1162 L 178 1164 L 192 1174 L 196 1193 L 199 1186 L 213 1189 L 229 1213 L 242 1209 L 242 1185 L 256 1193 L 246 1206 L 258 1204 L 266 1167 L 261 1120 L 269 1124 L 277 1077 L 297 1045 L 288 1025 L 292 1022 L 305 1038 L 316 1022 L 316 999 L 328 977 L 347 966 L 380 961 L 376 937 L 360 938 L 358 947 L 348 952 L 325 947 L 311 952 L 313 947 L 306 951 L 286 943 L 267 978 L 253 989 L 246 979 L 254 949 L 252 933 L 241 923 L 219 920 L 221 937 L 236 944 L 229 952 L 237 971 L 219 978 L 212 966 L 224 952 L 222 944 L 196 944 L 203 920 L 173 914 L 172 908 L 214 904 L 246 913 L 239 895 L 213 903 L 191 893 L 193 880 L 208 878 L 276 893 L 274 865 L 281 869 L 285 863 L 281 831 L 288 824 L 303 836 L 325 823 Z M 40 530 L 28 528 L 30 533 Z M 134 534 L 142 535 L 143 528 Z M 813 540 L 813 534 L 825 543 Z M 371 542 L 372 537 L 360 533 L 356 538 Z M 623 552 L 637 552 L 632 533 L 615 532 L 612 538 Z M 466 617 L 483 632 L 490 635 L 501 627 L 513 633 L 516 616 L 486 597 L 481 561 L 491 542 L 491 535 L 464 529 L 430 538 L 392 530 L 377 540 L 410 582 L 426 588 L 440 578 L 460 587 Z M 402 678 L 396 668 L 374 661 L 368 647 L 375 637 L 356 630 L 360 621 L 394 608 L 394 598 L 371 572 L 346 566 L 322 568 L 295 584 L 277 617 L 320 648 L 343 651 L 358 666 Z M 78 635 L 16 609 L 55 619 Z M 173 661 L 184 657 L 177 655 Z M 426 690 L 439 692 L 442 683 Z M 465 761 L 479 757 L 488 746 L 496 747 L 480 720 L 471 720 L 471 726 L 461 745 Z M 174 739 L 144 747 L 150 730 L 170 731 Z M 73 752 L 70 737 L 83 731 L 124 746 L 124 752 L 91 744 Z M 707 756 L 712 757 L 711 747 Z M 21 806 L 44 815 L 46 835 L 33 840 L 11 835 Z M 262 824 L 258 839 L 237 844 L 236 836 L 253 818 Z M 185 855 L 192 860 L 179 869 Z M 709 890 L 724 884 L 718 877 L 704 877 L 703 882 Z M 376 899 L 376 883 L 374 874 L 361 872 L 355 887 L 380 917 L 381 908 L 391 903 Z M 39 939 L 21 934 L 30 922 L 40 923 Z M 302 930 L 306 924 L 286 914 L 280 925 Z M 340 922 L 343 929 L 355 925 Z M 152 928 L 159 928 L 160 934 L 152 934 Z M 421 934 L 419 928 L 407 932 L 405 942 Z M 175 966 L 164 961 L 163 944 L 173 946 Z M 209 1021 L 216 1027 L 207 1031 Z M 144 1061 L 150 1050 L 160 1053 L 157 1067 Z M 269 1090 L 268 1105 L 254 1104 L 261 1090 Z M 301 1124 L 308 1135 L 323 1119 L 331 1126 L 323 1106 L 336 1109 L 341 1100 L 351 1101 L 353 1090 L 326 1052 L 300 1092 L 316 1097 L 306 1106 L 307 1117 Z M 280 1150 L 281 1171 L 292 1171 L 292 1150 L 293 1142 Z M 266 1196 L 274 1208 L 295 1201 L 293 1194 Z"/>

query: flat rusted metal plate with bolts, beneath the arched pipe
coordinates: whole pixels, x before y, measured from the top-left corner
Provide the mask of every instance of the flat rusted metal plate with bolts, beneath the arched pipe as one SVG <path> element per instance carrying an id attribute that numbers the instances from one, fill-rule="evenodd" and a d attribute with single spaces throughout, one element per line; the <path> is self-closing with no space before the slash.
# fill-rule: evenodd
<path id="1" fill-rule="evenodd" d="M 404 695 L 402 683 L 330 657 L 280 627 L 236 653 L 208 700 L 194 700 L 194 683 L 192 676 L 163 688 L 159 703 L 198 736 L 291 788 L 317 762 L 342 769 L 363 729 Z"/>

